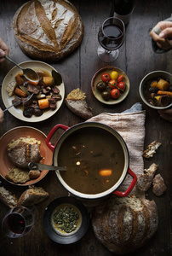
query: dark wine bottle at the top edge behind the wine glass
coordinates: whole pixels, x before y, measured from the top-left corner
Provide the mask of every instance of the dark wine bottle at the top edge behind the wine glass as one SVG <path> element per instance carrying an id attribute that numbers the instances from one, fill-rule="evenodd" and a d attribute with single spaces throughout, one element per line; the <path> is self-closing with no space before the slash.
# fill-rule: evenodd
<path id="1" fill-rule="evenodd" d="M 123 23 L 127 25 L 129 24 L 133 9 L 134 0 L 113 0 L 111 15 L 123 20 Z"/>

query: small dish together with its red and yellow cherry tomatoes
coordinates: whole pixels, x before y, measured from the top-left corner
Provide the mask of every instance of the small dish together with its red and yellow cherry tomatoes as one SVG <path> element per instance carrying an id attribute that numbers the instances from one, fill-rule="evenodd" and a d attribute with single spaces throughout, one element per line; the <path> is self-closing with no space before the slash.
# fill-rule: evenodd
<path id="1" fill-rule="evenodd" d="M 103 67 L 97 71 L 91 81 L 95 98 L 105 104 L 122 102 L 129 94 L 129 78 L 118 67 Z"/>

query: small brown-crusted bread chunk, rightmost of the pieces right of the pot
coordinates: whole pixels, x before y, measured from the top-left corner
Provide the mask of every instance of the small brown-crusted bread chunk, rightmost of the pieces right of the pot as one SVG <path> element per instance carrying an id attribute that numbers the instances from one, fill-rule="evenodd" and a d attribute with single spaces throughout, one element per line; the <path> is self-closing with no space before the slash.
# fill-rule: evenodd
<path id="1" fill-rule="evenodd" d="M 153 194 L 160 196 L 163 195 L 163 193 L 166 191 L 167 187 L 163 181 L 163 177 L 161 176 L 161 174 L 157 174 L 154 178 L 153 178 L 153 182 L 152 182 L 152 192 Z"/>

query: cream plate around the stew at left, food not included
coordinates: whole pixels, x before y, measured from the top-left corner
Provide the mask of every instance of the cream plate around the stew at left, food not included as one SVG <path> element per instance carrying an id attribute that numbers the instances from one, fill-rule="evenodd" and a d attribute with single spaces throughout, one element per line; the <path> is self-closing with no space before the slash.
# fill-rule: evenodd
<path id="1" fill-rule="evenodd" d="M 51 74 L 52 70 L 56 71 L 54 69 L 54 67 L 51 67 L 49 64 L 42 62 L 42 61 L 25 61 L 20 63 L 20 66 L 23 68 L 32 68 L 33 70 L 37 71 L 46 71 L 49 74 Z M 10 105 L 12 105 L 12 100 L 14 99 L 14 96 L 9 97 L 7 91 L 6 91 L 6 86 L 7 84 L 11 83 L 14 81 L 14 77 L 20 73 L 20 69 L 19 67 L 13 67 L 9 73 L 7 73 L 7 75 L 5 76 L 5 78 L 3 79 L 3 85 L 2 85 L 2 98 L 3 98 L 3 103 L 5 105 L 6 108 L 8 108 Z M 23 115 L 23 111 L 20 108 L 9 108 L 9 113 L 11 113 L 15 118 L 20 119 L 22 121 L 26 121 L 26 122 L 39 122 L 39 121 L 43 121 L 45 119 L 49 119 L 51 116 L 54 115 L 54 113 L 56 113 L 63 100 L 65 97 L 65 85 L 62 82 L 59 86 L 58 86 L 59 90 L 60 90 L 60 95 L 61 95 L 61 100 L 58 101 L 57 104 L 57 108 L 54 110 L 49 109 L 48 111 L 45 111 L 43 113 L 43 115 L 41 116 L 32 116 L 31 118 L 26 118 Z"/>

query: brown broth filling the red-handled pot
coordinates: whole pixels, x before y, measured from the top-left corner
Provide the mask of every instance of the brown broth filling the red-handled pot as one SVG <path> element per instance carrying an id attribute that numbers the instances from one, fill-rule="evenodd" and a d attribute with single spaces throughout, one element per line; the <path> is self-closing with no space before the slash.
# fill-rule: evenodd
<path id="1" fill-rule="evenodd" d="M 83 194 L 98 194 L 112 188 L 123 173 L 124 154 L 121 144 L 109 131 L 87 127 L 72 132 L 60 146 L 59 166 L 64 181 Z M 101 176 L 100 170 L 112 170 Z"/>

